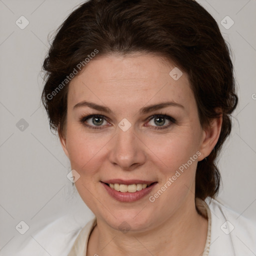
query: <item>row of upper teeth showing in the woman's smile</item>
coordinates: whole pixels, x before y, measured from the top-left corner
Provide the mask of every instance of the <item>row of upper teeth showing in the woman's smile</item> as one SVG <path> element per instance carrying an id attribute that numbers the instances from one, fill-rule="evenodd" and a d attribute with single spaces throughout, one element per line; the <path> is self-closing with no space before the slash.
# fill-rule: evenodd
<path id="1" fill-rule="evenodd" d="M 122 183 L 107 183 L 107 182 L 103 182 L 102 183 L 106 184 L 107 186 L 109 186 L 110 188 L 112 188 L 115 191 L 118 192 L 129 192 L 129 193 L 134 193 L 136 191 L 140 191 L 143 190 L 151 185 L 153 185 L 154 183 L 157 182 L 151 182 L 151 183 L 130 183 L 130 184 L 122 184 Z"/>

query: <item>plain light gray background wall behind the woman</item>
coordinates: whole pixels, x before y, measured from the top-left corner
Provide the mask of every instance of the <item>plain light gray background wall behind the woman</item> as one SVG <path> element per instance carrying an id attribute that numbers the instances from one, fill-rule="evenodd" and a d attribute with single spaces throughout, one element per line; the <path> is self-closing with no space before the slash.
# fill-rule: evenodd
<path id="1" fill-rule="evenodd" d="M 48 34 L 81 2 L 0 0 L 0 255 L 67 212 L 85 222 L 92 216 L 66 177 L 68 158 L 40 105 Z M 238 86 L 233 130 L 219 160 L 219 198 L 256 219 L 256 0 L 198 2 L 230 44 Z M 21 15 L 29 21 L 24 29 L 15 24 Z M 227 15 L 234 21 L 229 29 L 221 24 Z M 23 131 L 16 126 L 21 118 L 28 123 Z M 21 220 L 29 226 L 23 235 L 15 229 Z"/>

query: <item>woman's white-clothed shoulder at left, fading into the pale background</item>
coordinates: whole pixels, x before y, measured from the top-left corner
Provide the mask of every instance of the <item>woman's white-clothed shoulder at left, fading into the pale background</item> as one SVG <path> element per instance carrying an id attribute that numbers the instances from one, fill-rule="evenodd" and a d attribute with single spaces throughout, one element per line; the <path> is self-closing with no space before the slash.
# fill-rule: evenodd
<path id="1" fill-rule="evenodd" d="M 63 215 L 32 233 L 16 249 L 15 256 L 67 255 L 80 230 L 92 220 L 81 223 L 73 215 Z"/>

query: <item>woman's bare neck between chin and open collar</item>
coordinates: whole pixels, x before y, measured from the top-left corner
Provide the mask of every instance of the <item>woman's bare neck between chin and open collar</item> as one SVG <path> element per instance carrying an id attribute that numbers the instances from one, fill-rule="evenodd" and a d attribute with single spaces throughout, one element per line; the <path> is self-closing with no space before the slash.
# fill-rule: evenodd
<path id="1" fill-rule="evenodd" d="M 123 233 L 97 219 L 86 255 L 200 256 L 207 236 L 207 219 L 197 213 L 192 202 L 183 204 L 166 221 L 144 232 Z"/>

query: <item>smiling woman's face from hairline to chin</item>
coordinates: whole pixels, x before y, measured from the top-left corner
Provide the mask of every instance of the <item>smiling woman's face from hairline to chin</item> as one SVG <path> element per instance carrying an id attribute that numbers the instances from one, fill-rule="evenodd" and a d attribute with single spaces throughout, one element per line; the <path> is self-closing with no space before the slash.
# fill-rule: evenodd
<path id="1" fill-rule="evenodd" d="M 214 141 L 200 127 L 187 74 L 174 67 L 149 54 L 101 56 L 69 84 L 61 144 L 81 198 L 114 229 L 149 230 L 194 204 L 196 164 Z M 103 181 L 155 183 L 145 192 L 131 185 L 133 193 Z"/>

